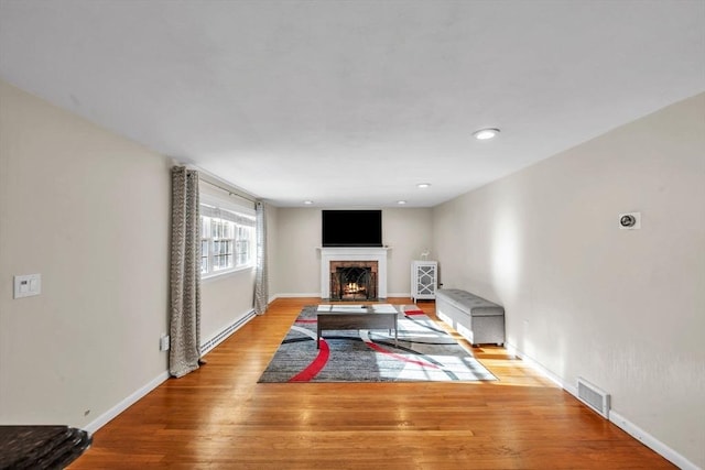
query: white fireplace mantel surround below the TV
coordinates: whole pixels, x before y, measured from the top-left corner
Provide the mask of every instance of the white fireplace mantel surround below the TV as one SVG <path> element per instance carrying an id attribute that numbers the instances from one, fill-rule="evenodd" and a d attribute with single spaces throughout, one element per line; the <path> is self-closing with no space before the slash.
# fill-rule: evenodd
<path id="1" fill-rule="evenodd" d="M 321 250 L 321 298 L 330 298 L 332 261 L 377 261 L 377 296 L 387 298 L 387 252 L 388 247 L 336 247 Z"/>

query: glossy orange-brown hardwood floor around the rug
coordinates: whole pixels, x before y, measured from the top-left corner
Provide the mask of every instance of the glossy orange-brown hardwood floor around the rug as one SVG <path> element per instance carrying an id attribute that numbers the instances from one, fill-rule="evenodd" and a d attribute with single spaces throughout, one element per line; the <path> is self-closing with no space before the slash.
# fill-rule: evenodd
<path id="1" fill-rule="evenodd" d="M 503 348 L 473 349 L 497 382 L 258 384 L 302 306 L 318 303 L 273 302 L 69 468 L 675 468 Z M 419 306 L 435 318 L 432 302 Z"/>

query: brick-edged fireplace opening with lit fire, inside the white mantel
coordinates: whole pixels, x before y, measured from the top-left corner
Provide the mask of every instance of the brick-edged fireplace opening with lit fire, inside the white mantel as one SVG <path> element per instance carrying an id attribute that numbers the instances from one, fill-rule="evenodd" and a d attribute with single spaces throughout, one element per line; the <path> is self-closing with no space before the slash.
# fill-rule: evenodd
<path id="1" fill-rule="evenodd" d="M 330 300 L 376 300 L 377 261 L 330 262 Z"/>

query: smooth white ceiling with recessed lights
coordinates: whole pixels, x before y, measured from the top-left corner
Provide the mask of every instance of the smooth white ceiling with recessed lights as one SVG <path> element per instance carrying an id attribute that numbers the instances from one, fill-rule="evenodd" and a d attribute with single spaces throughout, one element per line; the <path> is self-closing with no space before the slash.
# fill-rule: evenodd
<path id="1" fill-rule="evenodd" d="M 431 207 L 704 91 L 705 1 L 0 0 L 0 76 L 280 207 Z"/>

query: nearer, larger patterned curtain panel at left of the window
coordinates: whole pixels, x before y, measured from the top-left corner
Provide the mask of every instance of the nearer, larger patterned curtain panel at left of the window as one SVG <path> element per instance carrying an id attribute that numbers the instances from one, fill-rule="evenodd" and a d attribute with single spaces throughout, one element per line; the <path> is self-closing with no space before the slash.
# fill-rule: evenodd
<path id="1" fill-rule="evenodd" d="M 200 363 L 200 220 L 198 172 L 172 168 L 172 254 L 169 372 L 183 376 Z"/>

